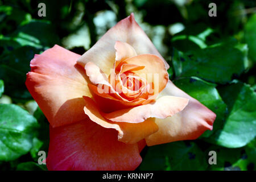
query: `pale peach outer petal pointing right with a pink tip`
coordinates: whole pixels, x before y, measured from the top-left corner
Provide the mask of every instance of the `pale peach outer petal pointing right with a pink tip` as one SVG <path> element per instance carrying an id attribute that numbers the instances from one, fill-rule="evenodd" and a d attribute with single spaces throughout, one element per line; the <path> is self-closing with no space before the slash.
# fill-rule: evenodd
<path id="1" fill-rule="evenodd" d="M 185 97 L 189 99 L 189 102 L 184 110 L 174 116 L 155 120 L 159 130 L 146 137 L 148 146 L 177 140 L 196 139 L 205 130 L 212 130 L 216 114 L 177 88 L 171 81 L 168 82 L 166 88 L 160 94 Z"/>

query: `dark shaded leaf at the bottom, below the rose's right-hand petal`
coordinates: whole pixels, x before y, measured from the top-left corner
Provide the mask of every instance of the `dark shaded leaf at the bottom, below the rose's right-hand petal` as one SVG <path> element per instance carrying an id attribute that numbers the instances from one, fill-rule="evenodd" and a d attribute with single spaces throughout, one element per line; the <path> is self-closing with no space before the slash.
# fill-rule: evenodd
<path id="1" fill-rule="evenodd" d="M 204 170 L 205 154 L 195 142 L 172 142 L 148 148 L 141 170 Z"/>

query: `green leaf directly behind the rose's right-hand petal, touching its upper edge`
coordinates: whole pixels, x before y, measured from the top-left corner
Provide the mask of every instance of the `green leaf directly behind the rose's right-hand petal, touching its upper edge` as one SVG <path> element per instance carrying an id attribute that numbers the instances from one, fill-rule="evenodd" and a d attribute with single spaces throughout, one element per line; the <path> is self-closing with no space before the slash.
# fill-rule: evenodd
<path id="1" fill-rule="evenodd" d="M 189 96 L 207 106 L 217 115 L 213 124 L 213 130 L 205 131 L 202 137 L 209 137 L 214 131 L 222 128 L 227 108 L 218 94 L 215 84 L 211 84 L 197 77 L 179 78 L 174 80 L 174 84 L 189 94 Z"/>

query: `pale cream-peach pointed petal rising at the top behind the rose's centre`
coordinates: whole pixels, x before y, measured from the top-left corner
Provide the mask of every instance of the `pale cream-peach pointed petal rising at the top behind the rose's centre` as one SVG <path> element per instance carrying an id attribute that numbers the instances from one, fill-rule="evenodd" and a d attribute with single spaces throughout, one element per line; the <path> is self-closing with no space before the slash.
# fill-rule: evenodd
<path id="1" fill-rule="evenodd" d="M 80 57 L 77 63 L 84 67 L 86 63 L 93 62 L 106 75 L 109 75 L 110 69 L 113 68 L 115 62 L 114 46 L 116 41 L 130 44 L 137 52 L 137 55 L 153 54 L 159 56 L 166 68 L 169 68 L 169 65 L 157 51 L 154 44 L 152 44 L 142 28 L 139 27 L 138 23 L 135 22 L 133 14 L 110 28 L 92 48 Z"/>

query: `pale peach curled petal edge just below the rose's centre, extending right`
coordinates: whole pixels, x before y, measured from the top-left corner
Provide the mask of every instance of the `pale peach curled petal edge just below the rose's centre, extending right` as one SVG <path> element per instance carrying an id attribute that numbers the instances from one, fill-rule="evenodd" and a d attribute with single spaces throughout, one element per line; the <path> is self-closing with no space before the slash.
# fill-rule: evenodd
<path id="1" fill-rule="evenodd" d="M 163 96 L 151 104 L 117 110 L 102 115 L 113 122 L 140 123 L 147 118 L 166 118 L 183 110 L 188 104 L 187 98 Z"/>

